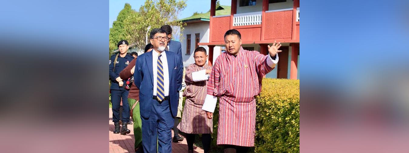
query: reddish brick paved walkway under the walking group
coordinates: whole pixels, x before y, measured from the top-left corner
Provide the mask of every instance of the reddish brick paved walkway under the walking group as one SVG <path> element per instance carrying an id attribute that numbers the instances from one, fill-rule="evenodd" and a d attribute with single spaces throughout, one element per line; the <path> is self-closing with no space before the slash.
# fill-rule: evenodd
<path id="1" fill-rule="evenodd" d="M 110 153 L 135 153 L 133 137 L 133 125 L 128 125 L 130 133 L 128 135 L 114 134 L 114 123 L 112 122 L 112 109 L 109 108 L 109 152 Z M 173 135 L 173 130 L 172 130 Z M 203 149 L 193 146 L 194 153 L 203 153 Z M 187 153 L 187 142 L 172 142 L 172 153 Z"/>

